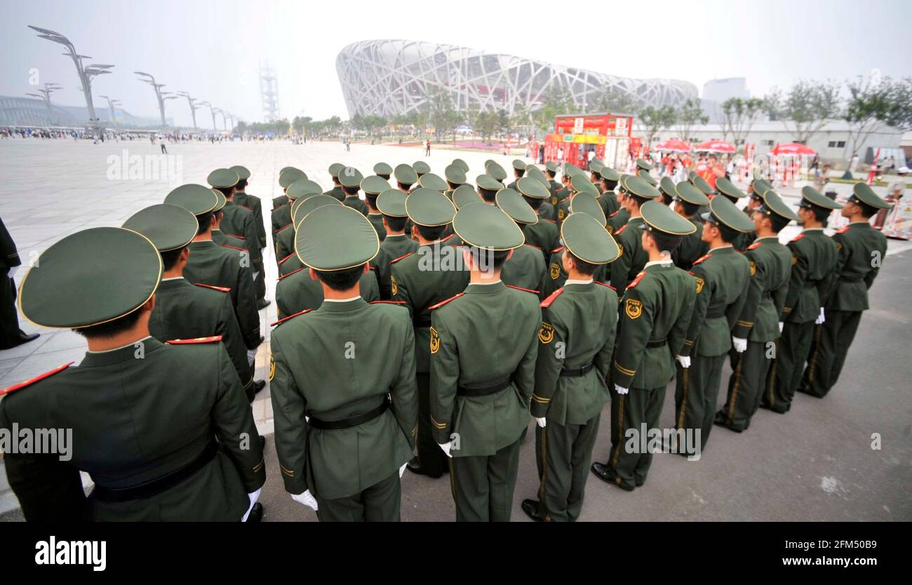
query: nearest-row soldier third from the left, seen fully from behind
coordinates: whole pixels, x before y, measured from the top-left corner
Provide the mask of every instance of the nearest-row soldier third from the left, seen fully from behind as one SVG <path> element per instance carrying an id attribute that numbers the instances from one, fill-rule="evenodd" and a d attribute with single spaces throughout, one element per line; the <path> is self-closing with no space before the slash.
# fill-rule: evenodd
<path id="1" fill-rule="evenodd" d="M 503 262 L 523 245 L 503 210 L 467 205 L 453 229 L 472 276 L 464 292 L 431 312 L 430 421 L 451 457 L 456 519 L 509 521 L 542 313 L 537 296 L 501 280 Z"/>

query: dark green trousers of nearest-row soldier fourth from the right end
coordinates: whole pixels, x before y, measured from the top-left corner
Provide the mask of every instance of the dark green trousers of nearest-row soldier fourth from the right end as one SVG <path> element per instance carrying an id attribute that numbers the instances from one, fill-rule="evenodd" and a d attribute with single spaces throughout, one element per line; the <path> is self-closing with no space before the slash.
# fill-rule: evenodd
<path id="1" fill-rule="evenodd" d="M 689 368 L 678 365 L 678 377 L 675 380 L 675 428 L 684 429 L 686 436 L 700 429 L 700 451 L 706 448 L 706 442 L 710 440 L 724 363 L 725 354 L 691 355 Z"/>

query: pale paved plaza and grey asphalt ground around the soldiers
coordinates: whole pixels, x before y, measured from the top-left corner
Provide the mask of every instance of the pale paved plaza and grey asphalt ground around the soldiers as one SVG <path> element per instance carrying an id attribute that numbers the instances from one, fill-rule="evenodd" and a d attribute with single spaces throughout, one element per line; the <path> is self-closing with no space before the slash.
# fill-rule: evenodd
<path id="1" fill-rule="evenodd" d="M 325 189 L 331 187 L 327 167 L 342 162 L 365 175 L 378 161 L 426 160 L 442 171 L 454 157 L 470 166 L 469 180 L 482 173 L 483 161 L 495 159 L 510 169 L 514 156 L 488 152 L 351 145 L 338 142 L 304 145 L 279 143 L 167 145 L 170 159 L 160 159 L 158 146 L 146 140 L 93 145 L 89 141 L 0 140 L 0 218 L 12 234 L 24 264 L 55 241 L 75 231 L 119 226 L 134 212 L 154 203 L 179 184 L 205 183 L 215 168 L 242 164 L 251 170 L 247 192 L 261 197 L 268 213 L 281 194 L 279 170 L 295 166 Z M 135 157 L 139 158 L 135 158 Z M 143 158 L 145 157 L 145 158 Z M 160 164 L 158 173 L 146 162 Z M 154 170 L 154 169 L 152 169 Z M 133 177 L 132 179 L 130 177 Z M 741 185 L 743 189 L 745 186 Z M 828 187 L 841 194 L 850 185 Z M 778 190 L 778 189 L 777 189 Z M 884 189 L 876 189 L 883 195 Z M 778 190 L 795 205 L 797 189 Z M 782 233 L 787 241 L 799 230 Z M 271 243 L 271 242 L 270 242 Z M 606 486 L 591 477 L 586 487 L 583 520 L 909 520 L 912 519 L 912 341 L 908 292 L 912 290 L 912 244 L 891 240 L 884 268 L 871 292 L 872 309 L 865 313 L 838 385 L 824 400 L 799 394 L 786 416 L 761 410 L 751 429 L 741 435 L 717 427 L 700 461 L 659 455 L 646 487 L 633 493 Z M 274 298 L 276 269 L 271 246 L 264 251 L 268 299 Z M 15 272 L 16 284 L 26 267 Z M 269 323 L 276 320 L 275 303 L 260 312 L 266 343 L 256 355 L 256 378 L 268 377 Z M 26 333 L 41 337 L 0 351 L 0 387 L 79 362 L 85 340 L 69 331 L 53 331 L 27 323 Z M 723 384 L 730 371 L 723 374 Z M 671 426 L 674 385 L 668 385 L 662 426 Z M 720 402 L 724 402 L 724 388 Z M 610 445 L 609 408 L 603 414 L 594 457 L 604 460 Z M 268 386 L 254 401 L 254 417 L 267 436 L 267 482 L 261 501 L 266 520 L 316 520 L 309 508 L 295 503 L 282 487 L 272 440 L 272 405 Z M 881 449 L 872 448 L 878 434 Z M 534 434 L 523 445 L 513 518 L 523 498 L 537 492 Z M 16 498 L 5 483 L 0 465 L 0 519 L 21 519 Z M 4 514 L 5 513 L 5 514 Z M 402 518 L 454 518 L 446 477 L 432 480 L 406 472 L 402 487 Z"/>

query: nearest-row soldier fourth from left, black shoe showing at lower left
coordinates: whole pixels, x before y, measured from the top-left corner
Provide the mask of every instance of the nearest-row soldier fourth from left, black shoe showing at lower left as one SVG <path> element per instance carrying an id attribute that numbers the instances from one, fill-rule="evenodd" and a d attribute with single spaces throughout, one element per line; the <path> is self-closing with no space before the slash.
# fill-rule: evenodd
<path id="1" fill-rule="evenodd" d="M 619 253 L 614 239 L 586 213 L 572 213 L 562 228 L 561 259 L 569 278 L 541 303 L 535 392 L 538 499 L 524 499 L 536 521 L 570 521 L 583 508 L 592 448 L 602 408 L 611 399 L 611 369 L 617 325 L 617 292 L 593 278 Z"/>

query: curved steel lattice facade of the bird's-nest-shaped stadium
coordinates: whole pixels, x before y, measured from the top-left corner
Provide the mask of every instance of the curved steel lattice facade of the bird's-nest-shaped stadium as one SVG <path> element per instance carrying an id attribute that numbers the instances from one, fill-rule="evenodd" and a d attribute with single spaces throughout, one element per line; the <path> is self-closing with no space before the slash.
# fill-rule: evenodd
<path id="1" fill-rule="evenodd" d="M 451 91 L 457 110 L 539 108 L 551 87 L 569 91 L 577 108 L 597 104 L 605 87 L 628 92 L 646 106 L 677 106 L 697 87 L 675 79 L 630 79 L 464 46 L 406 40 L 361 41 L 336 57 L 349 116 L 396 116 L 419 111 L 431 87 Z"/>

